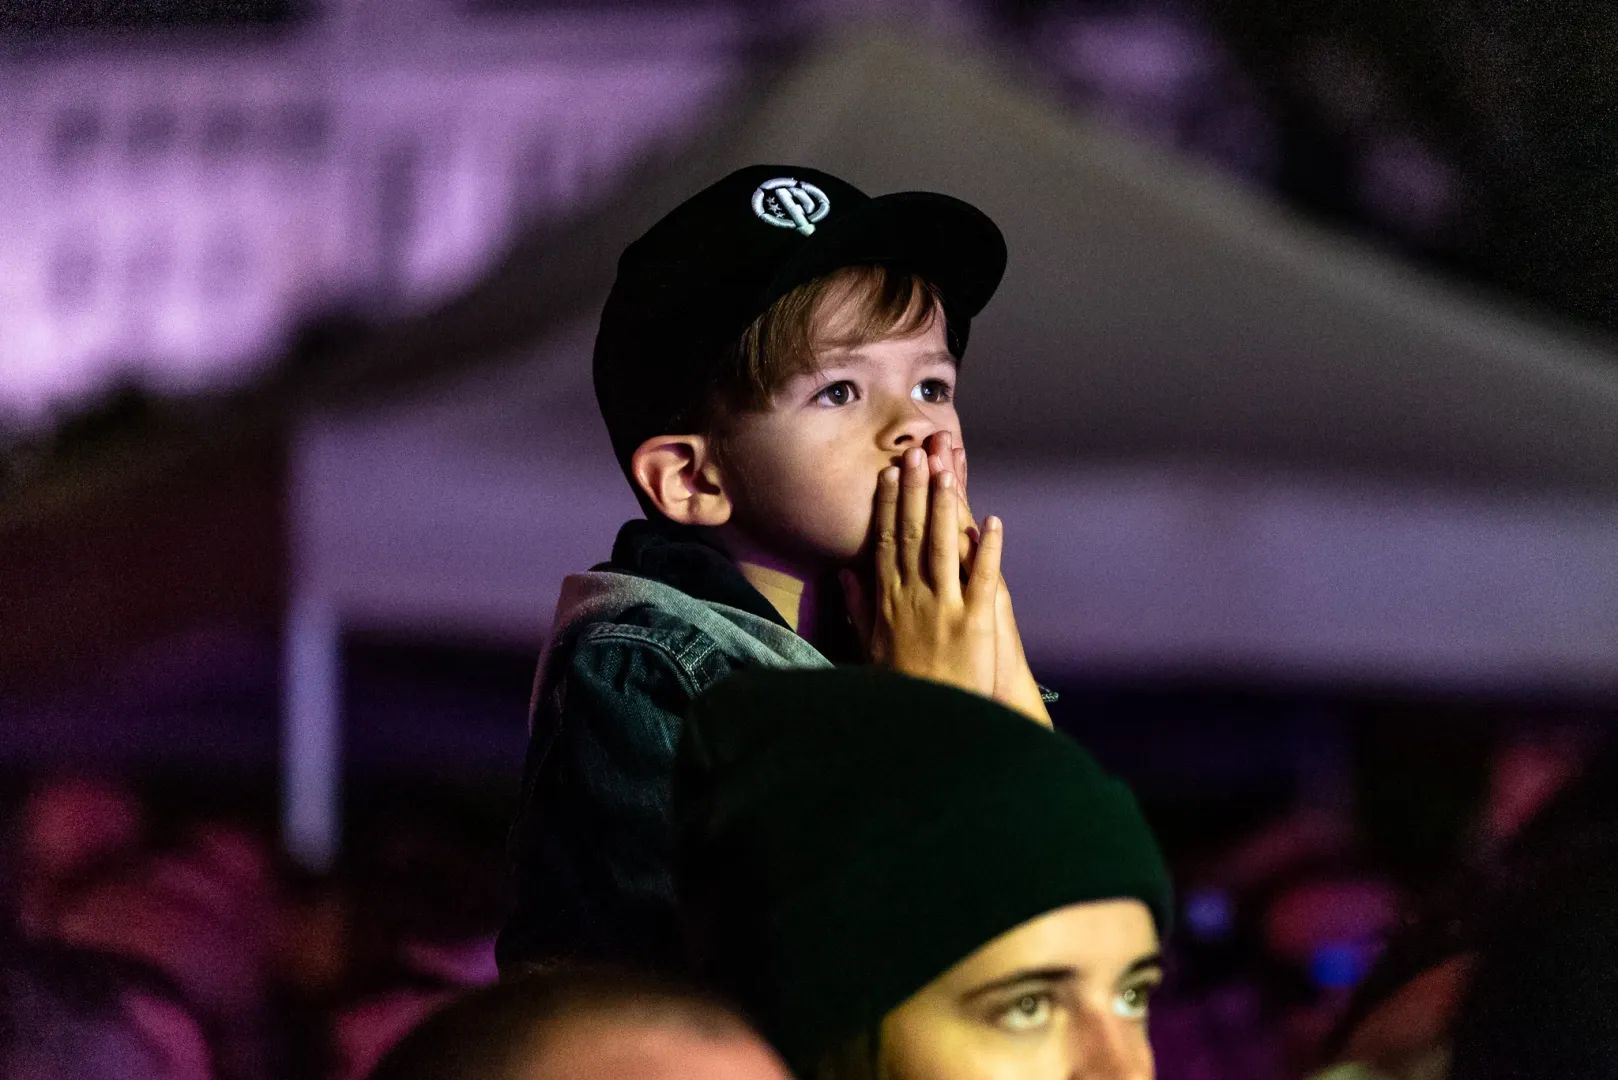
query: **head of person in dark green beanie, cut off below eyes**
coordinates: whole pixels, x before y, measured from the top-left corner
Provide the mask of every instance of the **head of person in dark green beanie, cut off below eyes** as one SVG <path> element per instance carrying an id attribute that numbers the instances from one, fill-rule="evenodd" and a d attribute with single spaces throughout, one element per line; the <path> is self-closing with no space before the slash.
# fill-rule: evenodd
<path id="1" fill-rule="evenodd" d="M 1129 789 L 987 698 L 748 672 L 675 772 L 697 962 L 799 1075 L 1152 1075 L 1168 874 Z"/>

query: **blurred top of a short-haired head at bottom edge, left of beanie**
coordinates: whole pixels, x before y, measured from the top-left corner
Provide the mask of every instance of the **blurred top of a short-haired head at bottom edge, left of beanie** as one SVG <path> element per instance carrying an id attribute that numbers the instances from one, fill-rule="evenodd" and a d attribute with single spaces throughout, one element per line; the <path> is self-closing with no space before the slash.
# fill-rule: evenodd
<path id="1" fill-rule="evenodd" d="M 485 986 L 398 1043 L 372 1080 L 788 1080 L 730 1007 L 608 968 L 558 967 Z"/>

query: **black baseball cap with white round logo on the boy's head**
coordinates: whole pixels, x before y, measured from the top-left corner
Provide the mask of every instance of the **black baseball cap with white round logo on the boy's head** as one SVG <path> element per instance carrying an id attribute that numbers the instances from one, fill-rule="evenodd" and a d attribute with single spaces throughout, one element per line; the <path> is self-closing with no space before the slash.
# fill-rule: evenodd
<path id="1" fill-rule="evenodd" d="M 801 165 L 748 165 L 691 196 L 618 259 L 595 335 L 595 400 L 625 473 L 636 447 L 678 434 L 715 366 L 798 285 L 846 266 L 917 274 L 966 348 L 1006 267 L 987 214 L 947 194 L 869 196 Z"/>

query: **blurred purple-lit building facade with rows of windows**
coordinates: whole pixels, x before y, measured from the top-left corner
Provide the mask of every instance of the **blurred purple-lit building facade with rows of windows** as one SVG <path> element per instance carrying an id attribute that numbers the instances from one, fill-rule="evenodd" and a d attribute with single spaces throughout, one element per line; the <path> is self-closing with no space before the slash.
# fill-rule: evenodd
<path id="1" fill-rule="evenodd" d="M 341 0 L 288 28 L 74 34 L 0 65 L 0 419 L 236 382 L 303 319 L 474 279 L 523 219 L 689 134 L 735 8 Z"/>

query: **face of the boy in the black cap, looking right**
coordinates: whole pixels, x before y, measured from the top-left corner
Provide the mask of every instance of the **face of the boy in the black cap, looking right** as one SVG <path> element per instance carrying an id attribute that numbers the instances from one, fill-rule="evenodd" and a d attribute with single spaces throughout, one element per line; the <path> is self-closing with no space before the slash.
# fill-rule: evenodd
<path id="1" fill-rule="evenodd" d="M 791 377 L 725 439 L 733 528 L 803 573 L 866 551 L 877 473 L 934 432 L 961 445 L 942 313 L 908 337 L 838 345 L 849 319 L 848 296 L 828 295 L 815 314 L 819 371 Z"/>

